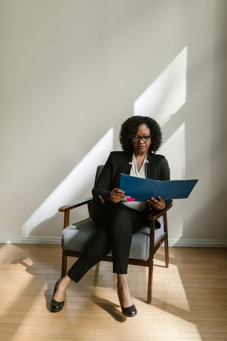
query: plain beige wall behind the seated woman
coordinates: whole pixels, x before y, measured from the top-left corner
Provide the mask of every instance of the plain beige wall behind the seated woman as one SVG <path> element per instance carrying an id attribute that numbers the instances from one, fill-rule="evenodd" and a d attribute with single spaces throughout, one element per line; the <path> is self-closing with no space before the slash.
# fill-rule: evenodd
<path id="1" fill-rule="evenodd" d="M 227 2 L 1 0 L 0 6 L 2 242 L 61 236 L 57 208 L 91 195 L 97 163 L 120 150 L 121 122 L 184 49 L 184 103 L 169 109 L 165 94 L 172 96 L 173 85 L 164 77 L 165 120 L 162 108 L 153 108 L 172 176 L 182 169 L 181 178 L 199 179 L 188 199 L 175 200 L 169 238 L 226 240 Z M 85 216 L 81 209 L 71 222 Z"/>

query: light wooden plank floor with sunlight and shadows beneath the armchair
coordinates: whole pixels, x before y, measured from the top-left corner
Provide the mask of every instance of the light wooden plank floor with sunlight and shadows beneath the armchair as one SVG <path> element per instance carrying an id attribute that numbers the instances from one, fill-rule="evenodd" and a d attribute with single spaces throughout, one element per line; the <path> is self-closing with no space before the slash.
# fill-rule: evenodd
<path id="1" fill-rule="evenodd" d="M 152 305 L 147 268 L 129 266 L 135 317 L 120 311 L 108 262 L 70 284 L 63 310 L 52 313 L 61 247 L 0 244 L 0 340 L 227 340 L 227 249 L 169 248 L 165 269 L 159 248 L 154 263 Z"/>

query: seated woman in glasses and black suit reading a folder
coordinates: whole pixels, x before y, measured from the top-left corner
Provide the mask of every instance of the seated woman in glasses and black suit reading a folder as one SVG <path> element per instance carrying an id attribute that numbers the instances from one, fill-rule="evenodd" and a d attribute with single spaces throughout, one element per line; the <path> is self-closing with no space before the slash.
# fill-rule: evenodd
<path id="1" fill-rule="evenodd" d="M 132 234 L 150 223 L 147 219 L 150 209 L 163 210 L 172 203 L 151 197 L 147 202 L 124 201 L 124 191 L 119 188 L 120 174 L 140 178 L 169 180 L 168 162 L 155 152 L 162 143 L 159 124 L 150 117 L 132 116 L 122 125 L 119 141 L 123 151 L 111 152 L 92 190 L 91 217 L 97 226 L 97 233 L 84 252 L 54 288 L 50 303 L 52 311 L 64 306 L 65 292 L 69 283 L 79 280 L 100 262 L 111 250 L 113 272 L 117 273 L 117 293 L 122 313 L 135 316 L 137 310 L 132 301 L 127 282 L 127 268 Z"/>

